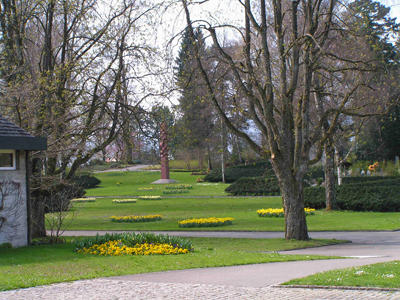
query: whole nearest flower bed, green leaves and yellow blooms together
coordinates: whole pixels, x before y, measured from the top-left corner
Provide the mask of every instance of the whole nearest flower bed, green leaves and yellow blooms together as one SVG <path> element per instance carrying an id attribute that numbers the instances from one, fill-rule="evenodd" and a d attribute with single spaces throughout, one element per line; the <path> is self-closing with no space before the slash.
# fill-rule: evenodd
<path id="1" fill-rule="evenodd" d="M 151 233 L 106 234 L 75 242 L 75 251 L 101 256 L 168 255 L 193 251 L 190 241 Z"/>

